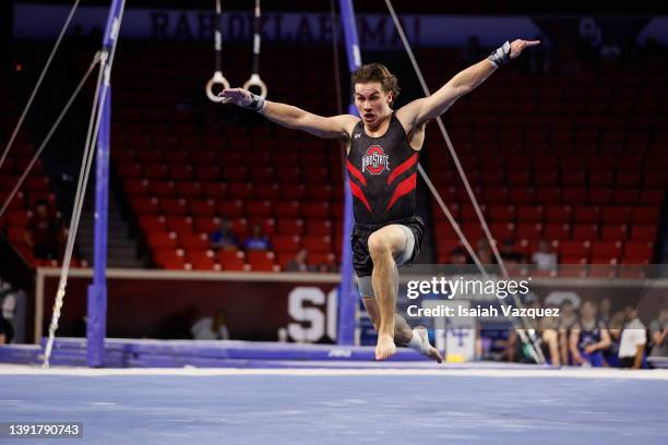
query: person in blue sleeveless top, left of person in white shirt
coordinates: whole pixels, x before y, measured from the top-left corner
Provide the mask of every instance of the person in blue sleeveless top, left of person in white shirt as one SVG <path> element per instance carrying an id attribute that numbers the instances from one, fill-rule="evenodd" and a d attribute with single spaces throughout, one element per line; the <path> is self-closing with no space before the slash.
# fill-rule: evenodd
<path id="1" fill-rule="evenodd" d="M 603 351 L 610 346 L 610 334 L 596 317 L 596 306 L 584 301 L 580 306 L 580 321 L 571 329 L 571 357 L 581 366 L 604 365 Z"/>

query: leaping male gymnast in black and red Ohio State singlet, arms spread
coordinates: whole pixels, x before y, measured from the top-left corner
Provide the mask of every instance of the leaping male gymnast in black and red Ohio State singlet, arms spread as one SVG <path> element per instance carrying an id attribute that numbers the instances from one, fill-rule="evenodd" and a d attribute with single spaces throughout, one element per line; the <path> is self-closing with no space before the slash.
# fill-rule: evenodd
<path id="1" fill-rule="evenodd" d="M 427 122 L 444 113 L 525 48 L 538 44 L 506 41 L 487 59 L 457 73 L 433 95 L 396 111 L 396 76 L 380 63 L 362 65 L 353 73 L 351 82 L 361 119 L 351 115 L 317 116 L 242 88 L 227 88 L 219 94 L 224 104 L 260 112 L 279 125 L 345 142 L 354 196 L 353 263 L 365 308 L 379 333 L 377 360 L 390 358 L 396 345 L 403 345 L 442 361 L 440 352 L 429 344 L 427 329 L 411 329 L 396 313 L 397 265 L 415 262 L 425 232 L 425 222 L 416 215 L 416 180 Z"/>

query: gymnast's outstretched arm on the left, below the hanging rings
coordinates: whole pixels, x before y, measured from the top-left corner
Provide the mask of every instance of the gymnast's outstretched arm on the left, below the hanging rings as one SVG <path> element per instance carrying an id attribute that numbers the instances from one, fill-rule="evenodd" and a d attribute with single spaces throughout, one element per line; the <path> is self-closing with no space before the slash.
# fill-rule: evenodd
<path id="1" fill-rule="evenodd" d="M 359 121 L 359 118 L 351 115 L 331 118 L 313 115 L 291 105 L 262 99 L 243 88 L 224 89 L 219 96 L 226 99 L 225 104 L 252 109 L 282 127 L 302 130 L 324 139 L 349 140 L 353 128 Z"/>

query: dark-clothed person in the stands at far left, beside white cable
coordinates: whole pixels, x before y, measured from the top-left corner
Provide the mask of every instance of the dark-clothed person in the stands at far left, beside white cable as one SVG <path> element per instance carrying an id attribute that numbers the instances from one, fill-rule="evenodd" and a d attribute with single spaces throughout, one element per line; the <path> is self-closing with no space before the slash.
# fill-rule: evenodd
<path id="1" fill-rule="evenodd" d="M 35 209 L 27 222 L 25 241 L 33 248 L 33 256 L 40 260 L 58 260 L 64 250 L 68 229 L 60 217 L 49 209 L 46 200 L 35 203 Z"/>

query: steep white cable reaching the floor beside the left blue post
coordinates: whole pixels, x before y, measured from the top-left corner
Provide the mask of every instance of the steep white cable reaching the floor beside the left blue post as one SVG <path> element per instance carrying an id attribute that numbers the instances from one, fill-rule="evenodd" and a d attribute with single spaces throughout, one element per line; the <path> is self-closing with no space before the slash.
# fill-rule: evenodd
<path id="1" fill-rule="evenodd" d="M 58 290 L 56 292 L 56 300 L 53 301 L 53 313 L 51 315 L 51 323 L 49 325 L 49 338 L 47 339 L 47 345 L 44 353 L 44 368 L 49 366 L 49 360 L 51 357 L 51 351 L 53 348 L 53 341 L 56 339 L 56 330 L 58 329 L 58 322 L 60 321 L 60 314 L 62 310 L 62 304 L 65 296 L 65 288 L 68 285 L 68 276 L 70 274 L 70 263 L 72 261 L 72 253 L 74 251 L 74 241 L 76 239 L 76 232 L 79 230 L 79 222 L 81 220 L 81 212 L 83 209 L 84 197 L 86 194 L 86 188 L 88 183 L 88 176 L 91 173 L 91 166 L 93 165 L 93 151 L 95 149 L 95 142 L 97 141 L 97 135 L 99 132 L 99 123 L 102 121 L 103 112 L 105 109 L 105 101 L 107 100 L 107 95 L 109 88 L 102 88 L 103 83 L 108 84 L 111 75 L 111 67 L 114 64 L 114 57 L 116 55 L 116 47 L 118 45 L 118 37 L 120 33 L 120 24 L 123 17 L 123 11 L 126 8 L 124 0 L 121 2 L 120 12 L 118 15 L 118 24 L 116 28 L 116 36 L 114 38 L 114 44 L 111 46 L 111 53 L 109 56 L 108 61 L 106 60 L 107 51 L 104 50 L 102 52 L 102 63 L 99 67 L 99 74 L 97 77 L 97 85 L 95 87 L 95 96 L 94 96 L 94 105 L 91 111 L 91 120 L 88 122 L 88 132 L 86 135 L 86 146 L 84 148 L 84 156 L 82 159 L 82 167 L 79 176 L 79 182 L 76 184 L 76 193 L 74 196 L 74 209 L 72 212 L 72 217 L 70 221 L 70 232 L 68 234 L 68 242 L 65 245 L 65 252 L 62 260 L 62 267 L 60 270 L 60 280 L 58 284 Z M 115 32 L 115 31 L 110 31 Z M 102 96 L 98 100 L 99 91 L 102 88 Z M 95 119 L 93 117 L 96 116 Z M 94 130 L 91 130 L 91 129 Z M 83 175 L 82 175 L 83 173 Z"/>

